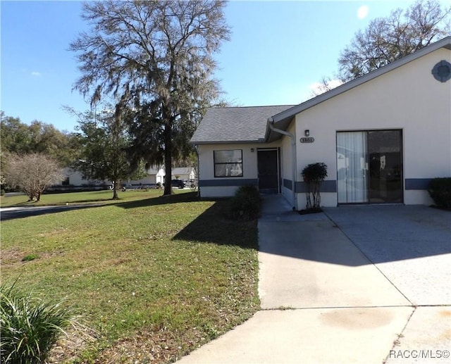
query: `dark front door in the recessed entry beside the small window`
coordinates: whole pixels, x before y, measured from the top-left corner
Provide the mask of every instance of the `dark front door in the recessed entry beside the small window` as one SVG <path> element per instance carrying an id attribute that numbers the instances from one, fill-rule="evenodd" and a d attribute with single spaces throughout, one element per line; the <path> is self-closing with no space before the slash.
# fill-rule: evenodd
<path id="1" fill-rule="evenodd" d="M 259 170 L 259 190 L 261 193 L 278 193 L 278 153 L 277 149 L 257 151 Z"/>

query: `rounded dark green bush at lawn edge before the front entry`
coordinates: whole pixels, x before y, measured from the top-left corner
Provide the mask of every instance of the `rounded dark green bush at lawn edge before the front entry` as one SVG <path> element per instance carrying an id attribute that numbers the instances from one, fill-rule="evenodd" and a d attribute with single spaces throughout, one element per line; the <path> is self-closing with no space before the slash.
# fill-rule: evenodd
<path id="1" fill-rule="evenodd" d="M 260 215 L 260 193 L 254 185 L 241 186 L 231 200 L 231 213 L 235 219 L 254 220 Z"/>

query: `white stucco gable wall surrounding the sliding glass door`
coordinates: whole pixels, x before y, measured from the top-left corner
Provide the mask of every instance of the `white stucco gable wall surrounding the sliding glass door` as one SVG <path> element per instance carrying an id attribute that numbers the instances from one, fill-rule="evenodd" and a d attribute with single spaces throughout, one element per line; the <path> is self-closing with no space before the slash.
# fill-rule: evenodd
<path id="1" fill-rule="evenodd" d="M 336 180 L 337 131 L 400 129 L 404 180 L 449 177 L 451 81 L 438 82 L 431 70 L 450 58 L 449 50 L 438 49 L 297 114 L 299 172 L 309 163 L 323 162 L 327 180 Z M 315 141 L 302 144 L 299 137 L 307 129 Z M 424 203 L 426 194 L 404 193 L 404 203 Z M 299 194 L 298 202 L 302 206 L 304 196 Z M 323 198 L 323 206 L 336 204 L 336 195 Z"/>

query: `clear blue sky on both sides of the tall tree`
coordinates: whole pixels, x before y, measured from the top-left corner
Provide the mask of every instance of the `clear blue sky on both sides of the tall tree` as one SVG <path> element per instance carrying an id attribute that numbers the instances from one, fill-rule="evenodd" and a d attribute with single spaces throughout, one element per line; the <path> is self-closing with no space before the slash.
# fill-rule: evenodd
<path id="1" fill-rule="evenodd" d="M 333 76 L 340 51 L 371 19 L 413 1 L 230 1 L 230 42 L 216 55 L 225 99 L 240 106 L 296 104 Z M 442 1 L 450 5 L 451 0 Z M 63 111 L 89 108 L 69 43 L 87 25 L 79 1 L 1 1 L 0 110 L 23 123 L 73 131 Z"/>

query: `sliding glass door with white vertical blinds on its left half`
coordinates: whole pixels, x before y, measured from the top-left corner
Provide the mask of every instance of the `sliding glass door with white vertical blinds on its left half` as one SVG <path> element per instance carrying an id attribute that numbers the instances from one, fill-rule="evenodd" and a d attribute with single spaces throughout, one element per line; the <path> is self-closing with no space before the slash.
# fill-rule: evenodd
<path id="1" fill-rule="evenodd" d="M 402 203 L 402 132 L 337 132 L 338 203 Z"/>

